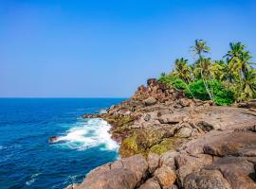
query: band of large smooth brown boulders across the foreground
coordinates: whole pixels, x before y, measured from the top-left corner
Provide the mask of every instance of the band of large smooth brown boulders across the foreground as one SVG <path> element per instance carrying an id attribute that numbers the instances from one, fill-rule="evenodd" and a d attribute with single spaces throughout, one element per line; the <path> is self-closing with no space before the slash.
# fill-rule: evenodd
<path id="1" fill-rule="evenodd" d="M 211 130 L 178 151 L 149 153 L 91 171 L 75 188 L 256 188 L 256 133 Z"/>

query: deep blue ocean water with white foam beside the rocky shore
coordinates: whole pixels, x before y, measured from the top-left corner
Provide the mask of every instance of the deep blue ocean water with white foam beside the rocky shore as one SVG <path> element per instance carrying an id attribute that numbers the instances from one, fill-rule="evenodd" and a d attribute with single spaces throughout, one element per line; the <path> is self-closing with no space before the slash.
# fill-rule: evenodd
<path id="1" fill-rule="evenodd" d="M 0 98 L 0 188 L 64 188 L 118 158 L 101 112 L 120 98 Z M 62 136 L 48 144 L 53 135 Z"/>

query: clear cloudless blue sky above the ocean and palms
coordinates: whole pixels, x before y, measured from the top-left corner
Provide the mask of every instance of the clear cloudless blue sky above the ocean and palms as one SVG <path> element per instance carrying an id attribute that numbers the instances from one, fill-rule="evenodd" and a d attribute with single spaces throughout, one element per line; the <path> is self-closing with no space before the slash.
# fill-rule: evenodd
<path id="1" fill-rule="evenodd" d="M 0 0 L 0 97 L 129 97 L 203 39 L 256 57 L 255 0 Z M 254 59 L 256 60 L 256 59 Z"/>

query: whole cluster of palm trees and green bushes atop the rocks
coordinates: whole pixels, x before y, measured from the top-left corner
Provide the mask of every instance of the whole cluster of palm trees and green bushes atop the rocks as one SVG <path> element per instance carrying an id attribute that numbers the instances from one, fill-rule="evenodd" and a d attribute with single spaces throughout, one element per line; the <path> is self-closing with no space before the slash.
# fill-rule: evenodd
<path id="1" fill-rule="evenodd" d="M 196 40 L 191 47 L 194 62 L 174 60 L 174 70 L 162 73 L 159 81 L 184 90 L 188 97 L 212 100 L 221 106 L 255 98 L 256 70 L 247 46 L 229 43 L 229 48 L 225 60 L 211 60 L 206 57 L 210 47 L 205 41 Z"/>

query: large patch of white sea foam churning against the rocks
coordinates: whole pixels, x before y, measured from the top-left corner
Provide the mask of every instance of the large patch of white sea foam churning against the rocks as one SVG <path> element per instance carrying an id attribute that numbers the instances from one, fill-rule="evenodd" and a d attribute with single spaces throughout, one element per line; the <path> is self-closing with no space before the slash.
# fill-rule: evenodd
<path id="1" fill-rule="evenodd" d="M 68 146 L 78 150 L 83 150 L 88 147 L 104 146 L 101 149 L 117 150 L 118 143 L 111 139 L 108 132 L 110 125 L 100 119 L 93 118 L 86 121 L 83 125 L 69 129 L 65 136 L 60 137 L 57 142 L 61 146 Z"/>

